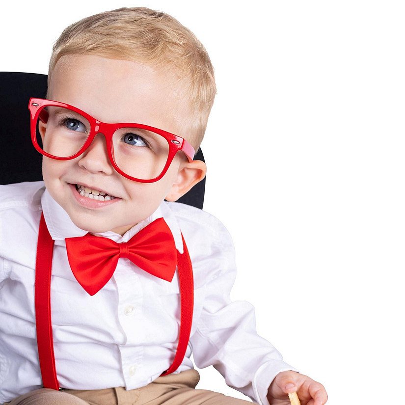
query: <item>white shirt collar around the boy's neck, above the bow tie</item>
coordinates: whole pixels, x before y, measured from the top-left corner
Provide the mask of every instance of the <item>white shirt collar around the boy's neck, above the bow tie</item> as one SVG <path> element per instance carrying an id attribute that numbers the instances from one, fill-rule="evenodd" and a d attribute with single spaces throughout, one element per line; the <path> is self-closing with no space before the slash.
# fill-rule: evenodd
<path id="1" fill-rule="evenodd" d="M 52 198 L 47 189 L 45 189 L 44 193 L 42 194 L 41 204 L 45 222 L 52 239 L 55 241 L 55 244 L 64 246 L 66 238 L 84 236 L 88 233 L 87 231 L 77 227 L 72 222 L 67 212 Z M 169 209 L 164 201 L 151 216 L 138 222 L 123 236 L 112 231 L 93 235 L 109 238 L 117 243 L 128 242 L 137 232 L 158 218 L 163 218 L 165 220 L 173 235 L 176 249 L 180 253 L 183 253 L 183 239 L 179 224 L 173 212 Z"/>

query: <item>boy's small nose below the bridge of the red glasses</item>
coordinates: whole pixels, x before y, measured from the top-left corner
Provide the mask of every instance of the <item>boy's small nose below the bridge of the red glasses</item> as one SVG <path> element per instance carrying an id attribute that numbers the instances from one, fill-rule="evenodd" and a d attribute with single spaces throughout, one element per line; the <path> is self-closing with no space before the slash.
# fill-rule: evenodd
<path id="1" fill-rule="evenodd" d="M 114 168 L 108 157 L 107 139 L 99 133 L 80 156 L 79 166 L 92 173 L 112 174 Z"/>

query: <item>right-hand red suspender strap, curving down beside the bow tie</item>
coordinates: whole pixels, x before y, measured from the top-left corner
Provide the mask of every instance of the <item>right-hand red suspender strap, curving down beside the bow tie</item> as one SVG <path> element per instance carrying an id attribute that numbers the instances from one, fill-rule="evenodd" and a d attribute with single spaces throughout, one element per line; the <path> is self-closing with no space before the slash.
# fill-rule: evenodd
<path id="1" fill-rule="evenodd" d="M 176 355 L 172 365 L 162 373 L 162 376 L 173 373 L 182 363 L 189 344 L 191 323 L 192 323 L 192 310 L 194 308 L 194 284 L 192 278 L 192 267 L 187 250 L 186 242 L 183 239 L 183 254 L 177 251 L 177 269 L 179 270 L 179 284 L 180 284 L 180 332 L 179 343 L 177 345 Z"/>

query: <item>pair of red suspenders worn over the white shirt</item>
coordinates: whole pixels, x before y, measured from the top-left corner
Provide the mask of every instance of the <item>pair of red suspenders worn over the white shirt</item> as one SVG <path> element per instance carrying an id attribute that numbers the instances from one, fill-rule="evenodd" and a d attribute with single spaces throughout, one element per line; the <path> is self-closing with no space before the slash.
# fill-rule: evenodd
<path id="1" fill-rule="evenodd" d="M 172 365 L 162 373 L 162 376 L 173 373 L 183 361 L 189 343 L 193 310 L 193 277 L 192 267 L 183 235 L 183 254 L 177 251 L 177 268 L 180 283 L 180 333 L 176 355 Z M 35 320 L 39 365 L 42 382 L 45 388 L 59 389 L 56 376 L 54 340 L 51 322 L 51 272 L 54 241 L 49 234 L 44 215 L 39 224 L 36 270 L 35 270 Z"/>

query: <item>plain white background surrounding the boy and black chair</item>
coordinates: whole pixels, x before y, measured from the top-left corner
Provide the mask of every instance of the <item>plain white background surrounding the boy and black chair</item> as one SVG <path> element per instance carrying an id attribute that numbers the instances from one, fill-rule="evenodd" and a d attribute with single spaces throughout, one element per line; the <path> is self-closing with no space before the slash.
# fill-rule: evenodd
<path id="1" fill-rule="evenodd" d="M 121 6 L 166 11 L 201 40 L 218 88 L 204 209 L 234 239 L 233 298 L 255 305 L 260 334 L 324 383 L 330 405 L 405 404 L 403 4 L 1 6 L 4 71 L 46 74 L 64 27 Z M 200 388 L 243 397 L 201 375 Z"/>

